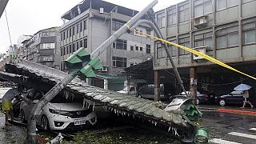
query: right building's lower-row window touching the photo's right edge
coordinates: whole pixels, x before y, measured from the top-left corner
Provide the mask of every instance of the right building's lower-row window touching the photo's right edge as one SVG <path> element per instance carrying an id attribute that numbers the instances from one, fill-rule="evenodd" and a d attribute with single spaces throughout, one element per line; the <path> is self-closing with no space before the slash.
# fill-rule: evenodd
<path id="1" fill-rule="evenodd" d="M 256 43 L 256 22 L 242 26 L 242 37 L 244 45 Z"/>

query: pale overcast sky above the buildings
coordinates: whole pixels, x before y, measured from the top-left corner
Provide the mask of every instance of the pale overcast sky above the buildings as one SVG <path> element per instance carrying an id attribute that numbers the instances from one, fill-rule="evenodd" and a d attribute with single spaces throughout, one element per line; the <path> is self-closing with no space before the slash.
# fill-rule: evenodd
<path id="1" fill-rule="evenodd" d="M 142 10 L 153 0 L 105 0 L 119 6 Z M 154 10 L 161 10 L 184 0 L 158 0 Z M 62 26 L 62 14 L 82 0 L 9 0 L 6 14 L 10 26 L 12 43 L 17 43 L 22 34 L 33 35 L 39 30 L 53 26 Z M 0 53 L 6 52 L 10 39 L 6 25 L 6 14 L 0 18 Z"/>

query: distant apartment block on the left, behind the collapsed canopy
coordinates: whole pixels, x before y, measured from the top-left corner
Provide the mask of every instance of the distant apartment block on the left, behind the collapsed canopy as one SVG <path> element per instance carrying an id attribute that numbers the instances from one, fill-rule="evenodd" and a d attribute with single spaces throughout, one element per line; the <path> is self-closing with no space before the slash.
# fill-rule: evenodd
<path id="1" fill-rule="evenodd" d="M 60 27 L 39 30 L 23 44 L 23 59 L 37 62 L 59 70 L 60 63 Z"/>

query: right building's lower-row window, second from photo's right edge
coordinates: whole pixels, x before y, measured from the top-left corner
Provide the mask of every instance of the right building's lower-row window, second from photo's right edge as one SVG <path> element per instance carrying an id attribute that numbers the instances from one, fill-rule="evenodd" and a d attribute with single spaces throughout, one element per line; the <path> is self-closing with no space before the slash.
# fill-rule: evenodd
<path id="1" fill-rule="evenodd" d="M 219 30 L 217 33 L 217 49 L 238 46 L 238 26 Z"/>

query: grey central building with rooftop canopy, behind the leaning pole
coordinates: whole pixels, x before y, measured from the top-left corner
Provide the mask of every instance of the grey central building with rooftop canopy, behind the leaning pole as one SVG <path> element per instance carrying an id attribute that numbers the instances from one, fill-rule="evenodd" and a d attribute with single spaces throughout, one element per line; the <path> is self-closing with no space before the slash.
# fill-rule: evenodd
<path id="1" fill-rule="evenodd" d="M 66 70 L 63 61 L 74 51 L 85 47 L 89 53 L 93 52 L 135 14 L 138 11 L 102 0 L 85 0 L 63 14 L 65 23 L 60 30 L 61 70 Z M 152 33 L 149 26 L 138 26 L 137 29 L 147 34 Z M 152 46 L 154 41 L 141 34 L 122 34 L 100 55 L 104 67 L 102 73 L 122 74 L 127 66 L 152 58 Z"/>

